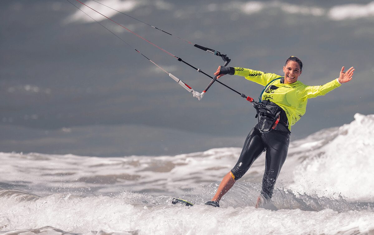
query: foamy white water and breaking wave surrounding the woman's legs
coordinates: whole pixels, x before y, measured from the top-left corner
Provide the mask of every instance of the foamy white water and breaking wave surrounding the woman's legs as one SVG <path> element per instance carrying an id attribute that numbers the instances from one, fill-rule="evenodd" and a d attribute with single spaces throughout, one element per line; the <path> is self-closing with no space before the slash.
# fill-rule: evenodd
<path id="1" fill-rule="evenodd" d="M 244 141 L 244 138 L 243 138 Z M 374 235 L 374 115 L 292 141 L 272 202 L 254 208 L 264 155 L 210 200 L 240 148 L 175 156 L 0 153 L 0 235 Z M 173 197 L 195 203 L 171 204 Z"/>

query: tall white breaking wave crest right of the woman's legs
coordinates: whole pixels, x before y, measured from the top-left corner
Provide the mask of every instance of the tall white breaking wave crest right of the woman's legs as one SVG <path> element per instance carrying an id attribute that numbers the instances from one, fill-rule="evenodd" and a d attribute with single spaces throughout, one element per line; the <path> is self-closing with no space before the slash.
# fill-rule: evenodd
<path id="1" fill-rule="evenodd" d="M 355 115 L 328 144 L 310 152 L 294 172 L 291 188 L 299 192 L 374 201 L 374 115 Z"/>

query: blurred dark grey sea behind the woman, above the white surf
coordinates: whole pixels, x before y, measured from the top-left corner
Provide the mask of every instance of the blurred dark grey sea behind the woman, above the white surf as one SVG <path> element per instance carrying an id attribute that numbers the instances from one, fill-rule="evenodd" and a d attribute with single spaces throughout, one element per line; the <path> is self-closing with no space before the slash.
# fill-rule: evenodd
<path id="1" fill-rule="evenodd" d="M 77 7 L 201 92 L 210 82 L 75 0 Z M 227 54 L 230 66 L 282 75 L 291 56 L 299 77 L 323 85 L 344 65 L 353 80 L 308 101 L 292 140 L 374 110 L 374 1 L 98 0 L 192 43 Z M 221 58 L 108 9 L 113 18 L 206 73 Z M 214 83 L 198 101 L 162 70 L 66 0 L 0 2 L 0 151 L 86 156 L 175 155 L 242 147 L 255 109 Z M 221 82 L 251 97 L 244 77 Z"/>

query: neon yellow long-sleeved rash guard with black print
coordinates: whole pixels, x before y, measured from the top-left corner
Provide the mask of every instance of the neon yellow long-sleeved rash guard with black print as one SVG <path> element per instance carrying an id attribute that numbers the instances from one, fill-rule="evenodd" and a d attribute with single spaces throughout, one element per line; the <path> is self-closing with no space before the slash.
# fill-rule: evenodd
<path id="1" fill-rule="evenodd" d="M 243 76 L 245 79 L 263 86 L 276 78 L 282 77 L 274 73 L 264 73 L 240 67 L 235 67 L 234 75 Z M 285 111 L 288 119 L 288 129 L 291 131 L 291 126 L 300 120 L 306 112 L 306 104 L 309 98 L 325 95 L 340 85 L 337 79 L 322 86 L 307 86 L 298 80 L 291 84 L 284 84 L 281 83 L 281 79 L 277 79 L 267 86 L 268 88 L 263 93 L 262 99 L 277 104 Z"/>

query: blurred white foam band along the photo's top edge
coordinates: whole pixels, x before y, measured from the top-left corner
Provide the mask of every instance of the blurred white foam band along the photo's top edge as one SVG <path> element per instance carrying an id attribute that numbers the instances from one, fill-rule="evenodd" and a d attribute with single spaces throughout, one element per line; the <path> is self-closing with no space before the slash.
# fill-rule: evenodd
<path id="1" fill-rule="evenodd" d="M 303 4 L 290 4 L 283 1 L 232 1 L 226 4 L 224 7 L 217 7 L 215 3 L 209 3 L 206 6 L 199 7 L 198 9 L 183 9 L 183 10 L 175 10 L 175 7 L 172 3 L 168 1 L 147 1 L 147 0 L 103 0 L 101 3 L 112 7 L 118 11 L 122 12 L 130 12 L 134 9 L 137 9 L 141 6 L 154 6 L 154 8 L 158 10 L 168 10 L 174 11 L 174 15 L 176 18 L 190 18 L 197 13 L 201 14 L 204 12 L 218 12 L 221 10 L 229 11 L 229 12 L 242 12 L 247 15 L 251 15 L 254 13 L 259 13 L 271 9 L 279 9 L 286 14 L 293 14 L 293 15 L 310 15 L 315 17 L 327 16 L 327 19 L 331 19 L 334 21 L 341 21 L 341 20 L 348 20 L 348 19 L 358 19 L 358 18 L 368 18 L 374 16 L 374 1 L 368 4 L 342 4 L 337 6 L 332 6 L 331 8 L 324 8 L 318 5 L 310 6 L 303 5 Z M 109 9 L 95 1 L 87 1 L 85 4 L 92 7 L 93 9 L 101 12 L 102 14 L 108 16 L 109 18 L 113 17 L 114 15 L 119 14 L 112 9 Z M 80 9 L 91 15 L 97 21 L 102 21 L 106 19 L 104 16 L 93 12 L 86 6 L 80 5 L 78 6 Z M 237 17 L 237 16 L 235 16 Z M 234 17 L 234 18 L 235 18 Z M 80 10 L 76 10 L 72 15 L 68 16 L 64 23 L 71 23 L 71 22 L 93 22 L 91 18 L 85 15 L 85 13 L 81 12 Z M 122 29 L 116 29 L 122 30 Z"/>

